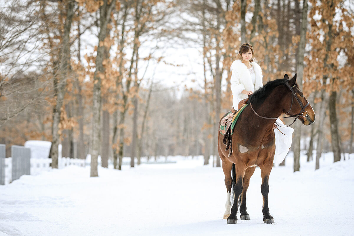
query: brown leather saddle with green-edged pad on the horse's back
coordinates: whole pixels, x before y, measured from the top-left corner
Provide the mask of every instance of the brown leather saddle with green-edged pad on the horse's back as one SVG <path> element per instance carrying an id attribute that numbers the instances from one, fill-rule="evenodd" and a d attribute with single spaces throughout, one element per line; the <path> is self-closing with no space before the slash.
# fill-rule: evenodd
<path id="1" fill-rule="evenodd" d="M 228 157 L 231 156 L 232 153 L 232 134 L 235 123 L 240 115 L 241 109 L 248 102 L 248 98 L 243 99 L 238 104 L 238 111 L 232 107 L 229 114 L 227 114 L 224 119 L 220 122 L 220 133 L 224 136 L 223 144 L 226 146 L 225 151 L 229 150 Z M 237 113 L 237 114 L 236 114 Z"/>

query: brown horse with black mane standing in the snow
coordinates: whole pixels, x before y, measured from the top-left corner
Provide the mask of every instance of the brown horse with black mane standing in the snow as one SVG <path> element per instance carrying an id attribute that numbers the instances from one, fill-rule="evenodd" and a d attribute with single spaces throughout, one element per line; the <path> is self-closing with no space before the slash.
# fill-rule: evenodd
<path id="1" fill-rule="evenodd" d="M 287 114 L 297 117 L 304 125 L 311 125 L 315 121 L 315 112 L 297 86 L 296 74 L 292 79 L 286 74 L 284 79 L 268 82 L 252 94 L 248 103 L 234 127 L 233 152 L 230 157 L 228 151 L 225 151 L 223 135 L 218 132 L 218 152 L 222 160 L 227 189 L 224 219 L 227 219 L 228 224 L 237 223 L 236 213 L 240 195 L 240 219 L 250 219 L 246 211 L 246 191 L 250 178 L 258 166 L 261 168 L 262 176 L 263 221 L 270 224 L 274 223 L 268 208 L 268 179 L 275 153 L 273 124 L 281 114 Z M 231 207 L 232 187 L 234 202 Z"/>

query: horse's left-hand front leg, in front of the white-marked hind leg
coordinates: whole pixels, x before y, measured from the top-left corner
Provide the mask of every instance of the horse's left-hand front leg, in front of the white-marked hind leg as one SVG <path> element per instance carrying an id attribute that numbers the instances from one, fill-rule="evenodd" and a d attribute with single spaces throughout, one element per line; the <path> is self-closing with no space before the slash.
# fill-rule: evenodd
<path id="1" fill-rule="evenodd" d="M 245 167 L 243 163 L 235 164 L 235 172 L 236 172 L 236 184 L 234 186 L 234 196 L 235 201 L 231 207 L 230 216 L 227 218 L 228 224 L 237 224 L 237 208 L 238 208 L 238 199 L 242 192 L 242 178 L 245 173 Z"/>

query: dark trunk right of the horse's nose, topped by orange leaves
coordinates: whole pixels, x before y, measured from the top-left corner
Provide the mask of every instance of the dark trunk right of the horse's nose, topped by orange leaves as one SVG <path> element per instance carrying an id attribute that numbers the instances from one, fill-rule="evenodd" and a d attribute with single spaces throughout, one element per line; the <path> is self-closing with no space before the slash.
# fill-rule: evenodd
<path id="1" fill-rule="evenodd" d="M 329 114 L 330 114 L 330 128 L 331 128 L 331 146 L 333 151 L 333 162 L 341 160 L 341 149 L 339 147 L 338 121 L 336 112 L 336 98 L 337 92 L 332 91 L 329 98 Z"/>

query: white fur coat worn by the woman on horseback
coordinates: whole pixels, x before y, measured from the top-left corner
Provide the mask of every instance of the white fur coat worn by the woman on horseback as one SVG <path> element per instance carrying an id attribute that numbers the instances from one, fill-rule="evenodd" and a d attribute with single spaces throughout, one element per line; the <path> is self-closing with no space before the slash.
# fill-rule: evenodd
<path id="1" fill-rule="evenodd" d="M 231 91 L 233 94 L 232 104 L 235 109 L 237 109 L 237 106 L 242 99 L 248 97 L 246 94 L 242 93 L 242 90 L 255 92 L 258 88 L 263 86 L 261 67 L 256 62 L 250 64 L 252 65 L 256 75 L 255 86 L 252 84 L 250 72 L 244 63 L 240 60 L 236 60 L 231 65 Z"/>

